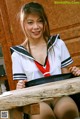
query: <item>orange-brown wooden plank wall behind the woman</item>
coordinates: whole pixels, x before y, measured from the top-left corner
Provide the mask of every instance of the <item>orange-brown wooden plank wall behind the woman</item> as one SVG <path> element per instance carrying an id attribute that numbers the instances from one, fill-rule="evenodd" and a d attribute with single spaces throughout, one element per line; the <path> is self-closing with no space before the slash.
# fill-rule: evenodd
<path id="1" fill-rule="evenodd" d="M 30 1 L 39 2 L 44 6 L 49 19 L 51 34 L 60 34 L 74 60 L 73 65 L 80 67 L 80 5 L 59 5 L 55 4 L 55 0 L 1 0 L 0 41 L 3 39 L 5 44 L 3 52 L 10 89 L 15 89 L 15 83 L 12 81 L 9 48 L 24 41 L 19 22 L 19 11 L 24 3 Z M 2 33 L 2 29 L 4 29 L 5 35 Z M 5 51 L 5 47 L 7 51 Z"/>

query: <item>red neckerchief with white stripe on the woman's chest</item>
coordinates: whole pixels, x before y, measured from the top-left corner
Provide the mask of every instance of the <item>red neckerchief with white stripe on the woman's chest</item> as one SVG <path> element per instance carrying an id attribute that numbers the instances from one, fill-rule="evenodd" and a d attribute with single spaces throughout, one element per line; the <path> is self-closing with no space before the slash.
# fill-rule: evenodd
<path id="1" fill-rule="evenodd" d="M 37 68 L 39 69 L 39 71 L 41 71 L 41 73 L 44 75 L 44 77 L 50 76 L 50 64 L 49 64 L 48 57 L 47 57 L 45 68 L 41 64 L 39 64 L 37 61 L 34 61 L 34 62 Z"/>

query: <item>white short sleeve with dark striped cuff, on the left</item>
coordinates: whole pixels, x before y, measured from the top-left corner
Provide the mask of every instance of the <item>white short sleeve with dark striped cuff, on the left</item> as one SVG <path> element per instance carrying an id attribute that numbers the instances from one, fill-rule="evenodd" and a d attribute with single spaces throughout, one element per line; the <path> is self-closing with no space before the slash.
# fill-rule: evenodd
<path id="1" fill-rule="evenodd" d="M 23 80 L 27 79 L 22 64 L 20 60 L 20 56 L 17 53 L 12 53 L 12 72 L 13 72 L 13 80 Z"/>

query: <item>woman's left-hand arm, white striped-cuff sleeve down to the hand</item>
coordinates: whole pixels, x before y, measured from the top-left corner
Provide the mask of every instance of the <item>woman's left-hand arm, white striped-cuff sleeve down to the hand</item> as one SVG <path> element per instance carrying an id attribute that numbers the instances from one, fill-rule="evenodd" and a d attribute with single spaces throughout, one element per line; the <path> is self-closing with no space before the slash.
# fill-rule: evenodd
<path id="1" fill-rule="evenodd" d="M 20 56 L 14 52 L 11 55 L 11 59 L 12 59 L 13 80 L 18 80 L 16 89 L 25 88 L 25 83 L 27 82 L 27 77 L 24 73 L 22 63 L 20 60 Z"/>

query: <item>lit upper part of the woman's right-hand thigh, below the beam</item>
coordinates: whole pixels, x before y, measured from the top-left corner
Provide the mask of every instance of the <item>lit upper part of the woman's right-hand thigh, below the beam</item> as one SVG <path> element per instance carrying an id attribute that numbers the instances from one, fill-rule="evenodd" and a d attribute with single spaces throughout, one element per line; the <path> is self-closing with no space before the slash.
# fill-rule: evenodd
<path id="1" fill-rule="evenodd" d="M 68 112 L 71 112 L 75 115 L 79 115 L 78 108 L 76 103 L 70 97 L 62 97 L 60 98 L 54 107 L 55 115 L 64 115 Z"/>

